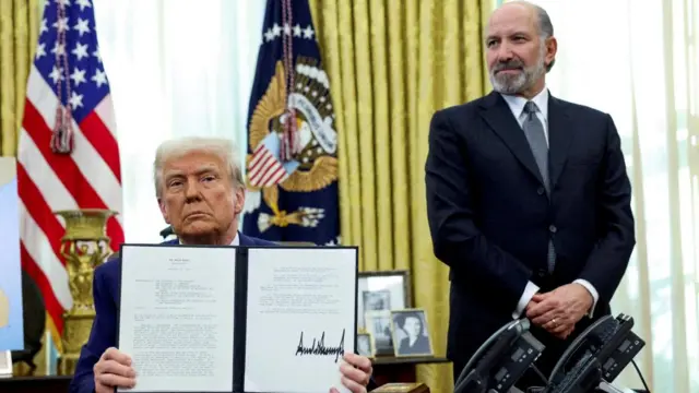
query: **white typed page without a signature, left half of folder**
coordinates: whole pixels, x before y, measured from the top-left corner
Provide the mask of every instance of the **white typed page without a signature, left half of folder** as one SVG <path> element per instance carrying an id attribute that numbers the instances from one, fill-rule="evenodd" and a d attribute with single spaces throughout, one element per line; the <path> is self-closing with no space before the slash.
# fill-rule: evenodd
<path id="1" fill-rule="evenodd" d="M 234 248 L 125 246 L 119 349 L 135 388 L 232 392 Z"/>

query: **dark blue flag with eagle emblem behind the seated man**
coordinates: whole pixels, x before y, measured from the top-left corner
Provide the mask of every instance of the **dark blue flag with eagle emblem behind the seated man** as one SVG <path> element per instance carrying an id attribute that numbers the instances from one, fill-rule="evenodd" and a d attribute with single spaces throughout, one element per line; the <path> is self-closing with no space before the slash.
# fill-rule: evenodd
<path id="1" fill-rule="evenodd" d="M 268 0 L 248 112 L 242 231 L 340 243 L 337 131 L 307 0 Z"/>

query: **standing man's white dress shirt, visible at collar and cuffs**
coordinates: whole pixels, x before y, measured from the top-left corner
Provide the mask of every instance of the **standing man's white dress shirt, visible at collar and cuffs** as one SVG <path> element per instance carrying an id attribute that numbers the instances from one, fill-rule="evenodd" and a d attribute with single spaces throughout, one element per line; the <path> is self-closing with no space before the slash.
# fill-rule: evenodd
<path id="1" fill-rule="evenodd" d="M 528 99 L 520 96 L 505 95 L 502 94 L 502 98 L 510 107 L 512 115 L 519 122 L 520 127 L 524 123 L 526 119 L 526 114 L 524 112 L 524 105 L 526 105 Z M 544 87 L 541 93 L 534 96 L 531 99 L 536 105 L 536 117 L 544 126 L 544 133 L 546 135 L 546 145 L 548 145 L 548 88 Z M 522 130 L 524 132 L 524 130 Z M 590 284 L 587 279 L 576 279 L 573 283 L 578 283 L 585 287 L 590 295 L 592 295 L 592 307 L 588 313 L 589 317 L 592 317 L 595 306 L 597 305 L 597 300 L 600 298 L 597 290 Z M 520 298 L 520 301 L 517 303 L 517 309 L 512 312 L 513 319 L 519 319 L 522 315 L 522 312 L 526 308 L 526 305 L 530 302 L 532 297 L 538 291 L 538 286 L 531 281 L 526 283 L 526 287 L 524 288 L 524 293 Z"/>

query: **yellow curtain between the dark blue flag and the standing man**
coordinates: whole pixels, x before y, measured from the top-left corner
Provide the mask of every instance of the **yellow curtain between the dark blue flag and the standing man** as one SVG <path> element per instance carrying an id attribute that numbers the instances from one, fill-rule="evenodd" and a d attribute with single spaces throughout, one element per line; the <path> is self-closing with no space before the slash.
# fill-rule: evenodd
<path id="1" fill-rule="evenodd" d="M 360 269 L 410 269 L 436 355 L 449 321 L 448 270 L 433 254 L 424 165 L 435 110 L 489 90 L 482 31 L 490 0 L 311 0 L 330 78 L 340 155 L 342 242 Z M 451 366 L 419 366 L 433 392 Z"/>

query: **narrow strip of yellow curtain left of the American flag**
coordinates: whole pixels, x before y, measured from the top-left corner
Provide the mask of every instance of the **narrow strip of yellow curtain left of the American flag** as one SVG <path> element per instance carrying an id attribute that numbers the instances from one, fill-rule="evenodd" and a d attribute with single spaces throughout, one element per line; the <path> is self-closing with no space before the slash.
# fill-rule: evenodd
<path id="1" fill-rule="evenodd" d="M 36 47 L 39 0 L 0 0 L 0 155 L 14 156 L 26 80 Z"/>

